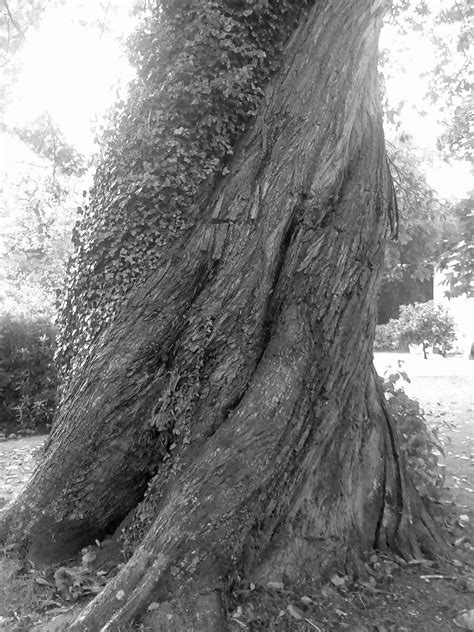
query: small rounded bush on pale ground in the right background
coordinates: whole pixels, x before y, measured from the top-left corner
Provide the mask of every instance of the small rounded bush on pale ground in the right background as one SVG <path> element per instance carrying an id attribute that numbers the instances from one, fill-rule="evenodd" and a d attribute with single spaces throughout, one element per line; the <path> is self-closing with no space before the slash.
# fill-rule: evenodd
<path id="1" fill-rule="evenodd" d="M 403 305 L 400 308 L 400 340 L 408 344 L 423 345 L 426 349 L 433 345 L 445 354 L 455 340 L 454 319 L 442 305 L 433 301 Z"/>

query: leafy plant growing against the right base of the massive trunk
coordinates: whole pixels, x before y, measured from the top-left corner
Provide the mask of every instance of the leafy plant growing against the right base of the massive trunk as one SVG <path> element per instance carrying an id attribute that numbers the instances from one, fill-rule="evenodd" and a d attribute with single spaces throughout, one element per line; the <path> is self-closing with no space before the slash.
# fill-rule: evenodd
<path id="1" fill-rule="evenodd" d="M 415 487 L 422 498 L 439 501 L 444 485 L 444 467 L 440 463 L 443 445 L 437 429 L 428 427 L 420 404 L 405 393 L 403 383 L 409 381 L 401 367 L 387 370 L 383 379 L 385 397 Z"/>

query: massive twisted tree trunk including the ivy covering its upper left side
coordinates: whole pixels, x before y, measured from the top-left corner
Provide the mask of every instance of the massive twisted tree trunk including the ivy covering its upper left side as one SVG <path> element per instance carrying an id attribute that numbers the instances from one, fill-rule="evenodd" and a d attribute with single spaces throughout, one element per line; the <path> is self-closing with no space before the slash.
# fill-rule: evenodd
<path id="1" fill-rule="evenodd" d="M 131 558 L 70 630 L 220 632 L 239 576 L 442 546 L 372 370 L 384 10 L 162 2 L 137 33 L 76 228 L 60 410 L 1 519 L 37 563 L 127 519 Z"/>

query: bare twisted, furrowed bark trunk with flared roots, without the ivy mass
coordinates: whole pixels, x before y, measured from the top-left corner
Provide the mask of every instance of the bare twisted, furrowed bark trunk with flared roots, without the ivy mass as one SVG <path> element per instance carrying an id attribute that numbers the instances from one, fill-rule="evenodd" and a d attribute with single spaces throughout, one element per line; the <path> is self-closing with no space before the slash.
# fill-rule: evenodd
<path id="1" fill-rule="evenodd" d="M 372 368 L 395 213 L 384 4 L 315 3 L 230 173 L 69 380 L 1 531 L 49 563 L 131 516 L 133 556 L 70 630 L 119 629 L 156 602 L 152 629 L 220 632 L 237 573 L 433 549 Z"/>

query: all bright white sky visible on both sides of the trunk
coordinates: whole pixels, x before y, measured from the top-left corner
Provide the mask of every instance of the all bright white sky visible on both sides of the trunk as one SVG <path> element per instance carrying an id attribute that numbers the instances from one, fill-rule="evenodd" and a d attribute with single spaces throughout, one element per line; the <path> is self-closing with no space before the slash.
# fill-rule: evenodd
<path id="1" fill-rule="evenodd" d="M 121 0 L 115 22 L 118 33 L 131 30 L 129 4 Z M 91 19 L 92 6 L 103 10 L 95 3 L 79 2 L 47 11 L 41 28 L 28 35 L 22 52 L 23 72 L 7 113 L 7 122 L 21 125 L 49 112 L 66 139 L 84 153 L 93 147 L 94 119 L 113 104 L 117 86 L 123 87 L 132 76 L 117 37 L 107 33 L 99 36 L 97 29 L 81 25 L 80 11 L 85 10 L 83 16 Z M 390 29 L 385 29 L 382 45 L 390 49 L 399 66 L 396 76 L 388 81 L 390 99 L 409 104 L 403 111 L 403 127 L 415 144 L 434 155 L 442 122 L 434 108 L 425 116 L 417 111 L 419 104 L 426 104 L 428 79 L 423 73 L 434 63 L 434 50 L 419 32 L 401 42 Z M 465 163 L 447 165 L 435 160 L 427 177 L 443 197 L 463 197 L 472 189 Z"/>

